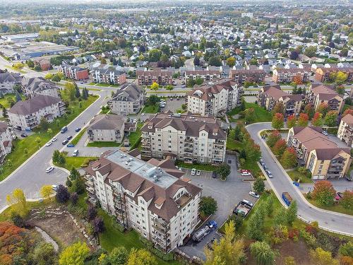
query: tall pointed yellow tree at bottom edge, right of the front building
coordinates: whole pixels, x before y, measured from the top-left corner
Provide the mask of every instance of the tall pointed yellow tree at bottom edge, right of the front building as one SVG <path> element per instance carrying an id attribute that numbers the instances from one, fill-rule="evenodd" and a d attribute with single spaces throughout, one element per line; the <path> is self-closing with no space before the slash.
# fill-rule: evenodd
<path id="1" fill-rule="evenodd" d="M 205 248 L 205 265 L 240 265 L 245 260 L 244 242 L 235 237 L 234 221 L 225 224 L 225 236 L 213 242 L 213 250 Z"/>

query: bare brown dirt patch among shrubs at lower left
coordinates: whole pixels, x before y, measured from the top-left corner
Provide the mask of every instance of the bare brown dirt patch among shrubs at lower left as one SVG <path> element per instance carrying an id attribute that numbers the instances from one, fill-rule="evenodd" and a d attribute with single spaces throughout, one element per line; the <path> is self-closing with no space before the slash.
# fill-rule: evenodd
<path id="1" fill-rule="evenodd" d="M 47 232 L 61 247 L 67 247 L 77 241 L 87 242 L 87 239 L 66 213 L 49 218 L 32 218 L 28 224 Z"/>

